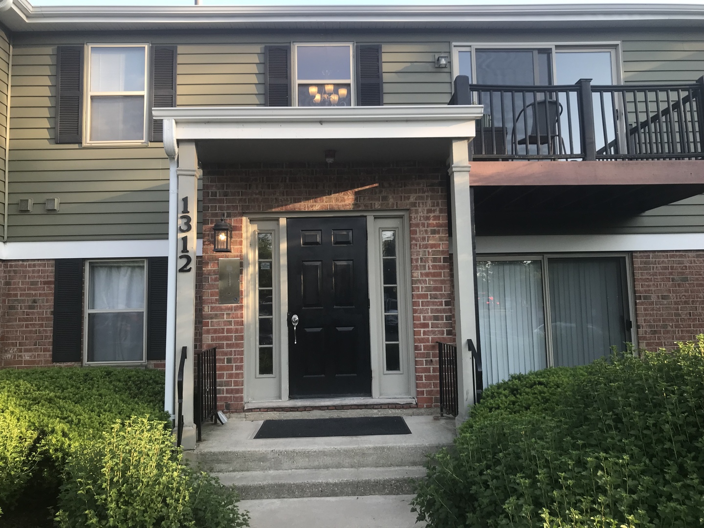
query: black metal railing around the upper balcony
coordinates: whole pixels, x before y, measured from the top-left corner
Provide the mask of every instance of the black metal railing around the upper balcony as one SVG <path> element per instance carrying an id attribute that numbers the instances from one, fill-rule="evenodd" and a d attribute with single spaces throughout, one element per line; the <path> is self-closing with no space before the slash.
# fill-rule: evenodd
<path id="1" fill-rule="evenodd" d="M 455 79 L 450 104 L 482 104 L 477 160 L 704 157 L 704 77 L 693 84 L 494 86 Z"/>

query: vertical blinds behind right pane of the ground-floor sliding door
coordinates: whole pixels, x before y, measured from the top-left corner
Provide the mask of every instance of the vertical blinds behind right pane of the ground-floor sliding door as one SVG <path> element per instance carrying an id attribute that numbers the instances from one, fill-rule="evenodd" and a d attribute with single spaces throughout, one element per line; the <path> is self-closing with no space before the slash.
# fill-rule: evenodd
<path id="1" fill-rule="evenodd" d="M 548 260 L 555 366 L 586 365 L 623 348 L 622 258 Z"/>

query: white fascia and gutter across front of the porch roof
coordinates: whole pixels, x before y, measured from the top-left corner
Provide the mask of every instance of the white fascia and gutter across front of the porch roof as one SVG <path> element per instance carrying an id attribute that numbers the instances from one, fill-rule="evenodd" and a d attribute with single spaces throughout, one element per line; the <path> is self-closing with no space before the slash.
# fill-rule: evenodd
<path id="1" fill-rule="evenodd" d="M 474 137 L 481 105 L 153 108 L 176 139 Z M 165 129 L 166 130 L 166 129 Z"/>

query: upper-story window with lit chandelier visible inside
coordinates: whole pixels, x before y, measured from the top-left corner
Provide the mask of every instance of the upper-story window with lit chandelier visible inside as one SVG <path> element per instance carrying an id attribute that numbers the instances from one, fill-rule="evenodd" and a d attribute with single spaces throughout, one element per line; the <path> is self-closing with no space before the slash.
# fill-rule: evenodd
<path id="1" fill-rule="evenodd" d="M 296 106 L 352 106 L 352 45 L 296 44 Z"/>

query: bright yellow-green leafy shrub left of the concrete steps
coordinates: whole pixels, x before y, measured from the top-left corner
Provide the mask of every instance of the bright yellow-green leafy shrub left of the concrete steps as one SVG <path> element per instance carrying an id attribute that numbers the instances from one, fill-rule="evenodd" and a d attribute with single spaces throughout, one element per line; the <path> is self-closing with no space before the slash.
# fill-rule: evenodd
<path id="1" fill-rule="evenodd" d="M 73 448 L 56 520 L 61 528 L 247 526 L 234 491 L 190 470 L 181 456 L 163 423 L 116 422 Z"/>

